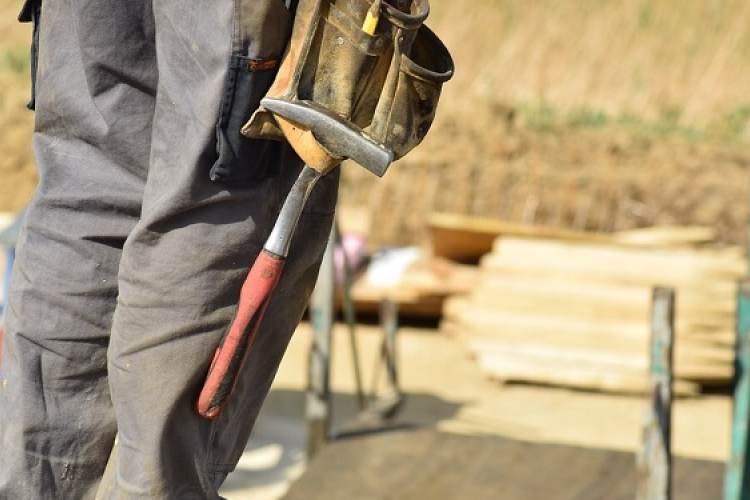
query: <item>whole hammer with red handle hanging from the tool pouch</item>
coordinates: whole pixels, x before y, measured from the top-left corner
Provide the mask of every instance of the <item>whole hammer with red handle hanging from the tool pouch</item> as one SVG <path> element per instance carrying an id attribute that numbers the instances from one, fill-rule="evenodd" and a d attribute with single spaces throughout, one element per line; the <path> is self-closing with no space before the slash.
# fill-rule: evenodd
<path id="1" fill-rule="evenodd" d="M 213 420 L 226 407 L 289 254 L 294 230 L 315 183 L 346 158 L 382 177 L 393 152 L 356 126 L 311 101 L 265 98 L 289 143 L 305 162 L 284 200 L 263 250 L 242 285 L 239 306 L 214 353 L 195 407 Z"/>

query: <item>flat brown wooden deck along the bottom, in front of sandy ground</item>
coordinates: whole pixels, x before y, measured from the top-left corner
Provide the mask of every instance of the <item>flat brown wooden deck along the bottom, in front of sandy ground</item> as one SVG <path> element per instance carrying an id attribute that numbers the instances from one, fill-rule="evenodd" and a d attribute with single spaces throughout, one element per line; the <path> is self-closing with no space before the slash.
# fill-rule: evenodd
<path id="1" fill-rule="evenodd" d="M 673 496 L 721 498 L 724 464 L 678 458 Z M 631 453 L 397 430 L 326 446 L 284 500 L 632 500 Z"/>

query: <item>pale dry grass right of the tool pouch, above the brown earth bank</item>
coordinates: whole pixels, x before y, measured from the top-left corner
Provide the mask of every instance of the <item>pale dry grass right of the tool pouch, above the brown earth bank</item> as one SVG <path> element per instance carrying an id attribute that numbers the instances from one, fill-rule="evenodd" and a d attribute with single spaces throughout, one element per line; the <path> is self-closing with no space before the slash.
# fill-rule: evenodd
<path id="1" fill-rule="evenodd" d="M 750 114 L 747 2 L 431 3 L 458 61 L 453 97 L 698 129 Z"/>

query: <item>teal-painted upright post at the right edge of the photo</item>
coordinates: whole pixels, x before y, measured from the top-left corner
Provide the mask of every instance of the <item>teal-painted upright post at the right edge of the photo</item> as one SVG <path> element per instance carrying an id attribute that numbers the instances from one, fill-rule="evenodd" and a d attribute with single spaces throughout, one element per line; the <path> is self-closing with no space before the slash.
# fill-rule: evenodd
<path id="1" fill-rule="evenodd" d="M 732 450 L 724 481 L 724 500 L 750 498 L 750 281 L 737 287 L 736 344 L 734 361 L 734 414 L 732 416 Z"/>

